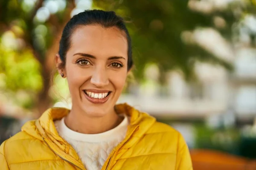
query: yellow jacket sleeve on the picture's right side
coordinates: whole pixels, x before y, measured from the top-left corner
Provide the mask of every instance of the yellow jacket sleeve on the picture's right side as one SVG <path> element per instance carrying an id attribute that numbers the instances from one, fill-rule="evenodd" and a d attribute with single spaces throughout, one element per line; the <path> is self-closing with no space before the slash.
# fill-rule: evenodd
<path id="1" fill-rule="evenodd" d="M 175 170 L 193 170 L 189 148 L 180 133 L 178 134 Z"/>

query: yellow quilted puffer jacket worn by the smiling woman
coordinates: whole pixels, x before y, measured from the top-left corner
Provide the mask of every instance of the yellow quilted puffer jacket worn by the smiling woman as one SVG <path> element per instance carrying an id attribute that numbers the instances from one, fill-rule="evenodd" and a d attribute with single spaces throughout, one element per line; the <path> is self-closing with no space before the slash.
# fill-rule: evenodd
<path id="1" fill-rule="evenodd" d="M 116 105 L 116 111 L 131 116 L 130 125 L 102 170 L 192 170 L 179 132 L 129 105 Z M 65 108 L 50 108 L 38 120 L 26 122 L 21 132 L 1 144 L 0 170 L 85 170 L 54 126 L 54 120 L 68 113 Z"/>

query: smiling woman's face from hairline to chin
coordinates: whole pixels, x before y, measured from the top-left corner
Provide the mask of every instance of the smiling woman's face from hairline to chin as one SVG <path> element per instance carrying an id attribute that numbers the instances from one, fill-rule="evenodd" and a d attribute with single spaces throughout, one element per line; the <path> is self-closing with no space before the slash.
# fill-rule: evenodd
<path id="1" fill-rule="evenodd" d="M 75 29 L 62 70 L 74 110 L 93 117 L 113 111 L 127 77 L 127 50 L 125 34 L 118 28 Z"/>

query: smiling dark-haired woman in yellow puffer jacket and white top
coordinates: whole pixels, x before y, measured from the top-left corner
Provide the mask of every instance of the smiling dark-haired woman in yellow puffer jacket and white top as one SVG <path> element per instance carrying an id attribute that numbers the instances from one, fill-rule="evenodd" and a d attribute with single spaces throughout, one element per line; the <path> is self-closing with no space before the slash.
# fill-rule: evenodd
<path id="1" fill-rule="evenodd" d="M 133 65 L 121 17 L 101 10 L 75 15 L 55 61 L 72 109 L 50 108 L 3 142 L 1 170 L 192 170 L 180 133 L 116 105 Z"/>

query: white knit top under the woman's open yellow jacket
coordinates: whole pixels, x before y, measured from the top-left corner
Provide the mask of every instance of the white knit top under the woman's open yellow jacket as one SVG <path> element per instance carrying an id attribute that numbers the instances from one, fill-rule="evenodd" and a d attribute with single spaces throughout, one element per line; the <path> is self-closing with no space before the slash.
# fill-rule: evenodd
<path id="1" fill-rule="evenodd" d="M 123 116 L 123 121 L 117 127 L 98 134 L 73 131 L 65 125 L 65 118 L 54 124 L 59 135 L 76 150 L 87 170 L 101 170 L 113 148 L 125 138 L 129 120 L 125 114 Z"/>

